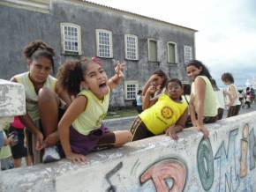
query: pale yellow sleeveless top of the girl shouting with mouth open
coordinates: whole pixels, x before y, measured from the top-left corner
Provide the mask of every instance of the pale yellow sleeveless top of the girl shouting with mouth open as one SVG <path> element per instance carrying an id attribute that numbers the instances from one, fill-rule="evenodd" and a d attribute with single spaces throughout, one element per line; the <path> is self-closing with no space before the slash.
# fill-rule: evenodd
<path id="1" fill-rule="evenodd" d="M 87 98 L 86 110 L 72 123 L 74 129 L 80 134 L 88 135 L 93 129 L 98 129 L 102 126 L 102 120 L 105 118 L 109 108 L 109 95 L 104 96 L 103 100 L 99 100 L 93 92 L 83 90 L 79 92 Z"/>

